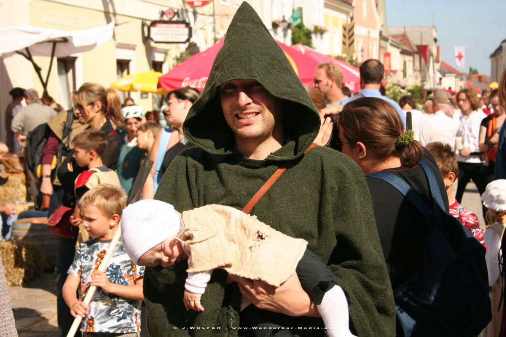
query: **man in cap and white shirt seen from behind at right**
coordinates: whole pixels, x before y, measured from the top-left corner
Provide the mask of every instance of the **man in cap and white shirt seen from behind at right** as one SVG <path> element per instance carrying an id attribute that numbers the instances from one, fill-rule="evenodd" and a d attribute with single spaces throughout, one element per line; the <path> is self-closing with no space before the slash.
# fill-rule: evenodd
<path id="1" fill-rule="evenodd" d="M 448 143 L 452 149 L 455 149 L 455 135 L 457 133 L 459 120 L 451 118 L 445 114 L 447 109 L 451 109 L 451 94 L 443 90 L 437 90 L 432 95 L 432 110 L 423 116 L 418 130 L 418 137 L 421 145 L 440 141 L 443 144 Z"/>

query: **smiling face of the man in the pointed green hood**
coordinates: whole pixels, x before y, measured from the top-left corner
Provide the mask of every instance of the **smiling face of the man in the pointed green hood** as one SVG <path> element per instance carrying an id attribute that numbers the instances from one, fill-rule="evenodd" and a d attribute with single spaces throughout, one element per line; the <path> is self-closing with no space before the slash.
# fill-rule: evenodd
<path id="1" fill-rule="evenodd" d="M 282 102 L 258 81 L 226 82 L 220 85 L 220 99 L 225 120 L 236 140 L 258 143 L 274 138 L 282 141 Z"/>

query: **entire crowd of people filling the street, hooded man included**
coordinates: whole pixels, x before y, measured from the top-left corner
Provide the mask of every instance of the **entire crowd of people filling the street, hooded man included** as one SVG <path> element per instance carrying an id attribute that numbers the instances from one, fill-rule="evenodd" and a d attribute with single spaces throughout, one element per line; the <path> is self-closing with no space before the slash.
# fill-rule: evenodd
<path id="1" fill-rule="evenodd" d="M 356 95 L 333 63 L 304 87 L 243 4 L 203 92 L 171 91 L 161 113 L 121 105 L 96 83 L 71 94 L 69 111 L 11 90 L 0 156 L 47 124 L 29 198 L 36 214 L 69 215 L 58 236 L 59 335 L 80 316 L 83 336 L 139 336 L 142 301 L 151 335 L 506 330 L 506 73 L 489 101 L 438 89 L 395 102 L 383 81 L 371 59 Z M 485 231 L 460 205 L 471 179 Z"/>

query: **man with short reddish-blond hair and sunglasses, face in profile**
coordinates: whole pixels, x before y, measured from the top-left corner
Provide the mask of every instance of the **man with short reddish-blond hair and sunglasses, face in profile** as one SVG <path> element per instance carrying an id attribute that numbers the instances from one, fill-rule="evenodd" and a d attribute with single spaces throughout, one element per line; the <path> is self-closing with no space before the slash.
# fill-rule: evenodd
<path id="1" fill-rule="evenodd" d="M 335 63 L 324 62 L 316 66 L 314 85 L 320 90 L 327 105 L 341 105 L 341 101 L 347 98 L 341 89 L 343 70 Z"/>

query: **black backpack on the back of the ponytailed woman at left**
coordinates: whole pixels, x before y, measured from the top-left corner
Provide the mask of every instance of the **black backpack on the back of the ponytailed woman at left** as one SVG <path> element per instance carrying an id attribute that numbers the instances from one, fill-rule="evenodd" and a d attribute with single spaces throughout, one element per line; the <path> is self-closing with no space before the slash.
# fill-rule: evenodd
<path id="1" fill-rule="evenodd" d="M 67 111 L 67 121 L 63 127 L 63 137 L 67 138 L 67 144 L 60 141 L 60 146 L 57 152 L 57 167 L 61 161 L 61 156 L 65 155 L 69 151 L 70 146 L 70 134 L 72 132 L 72 123 L 74 122 L 74 113 L 72 110 Z M 48 142 L 51 129 L 47 123 L 40 124 L 32 131 L 28 132 L 26 136 L 26 147 L 25 147 L 25 161 L 28 169 L 33 172 L 35 178 L 37 177 L 37 166 L 42 163 L 42 151 Z M 54 173 L 53 173 L 54 179 Z M 51 180 L 53 180 L 51 179 Z"/>

